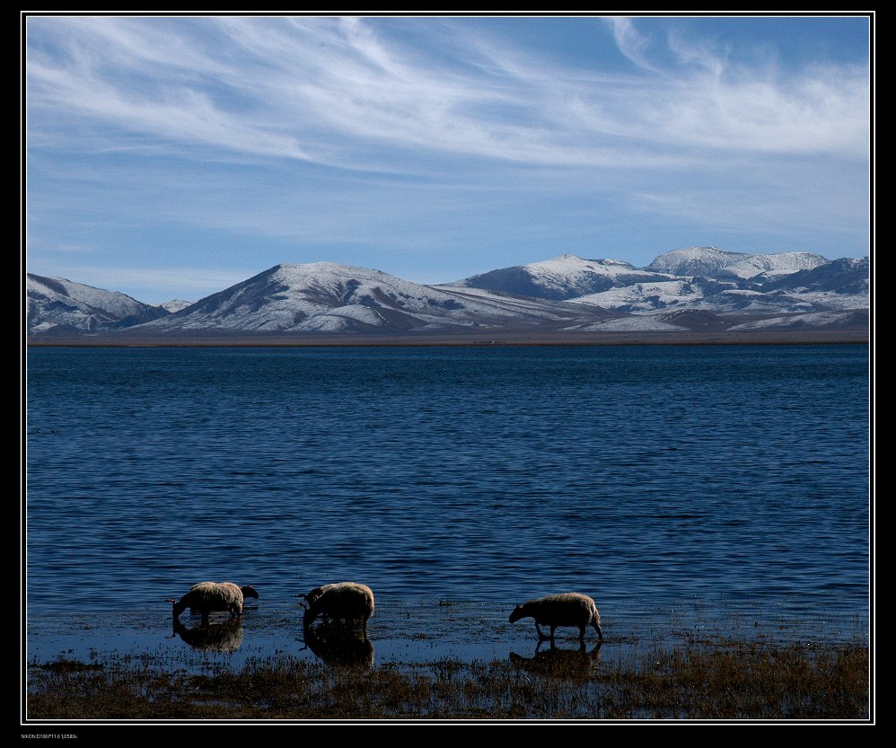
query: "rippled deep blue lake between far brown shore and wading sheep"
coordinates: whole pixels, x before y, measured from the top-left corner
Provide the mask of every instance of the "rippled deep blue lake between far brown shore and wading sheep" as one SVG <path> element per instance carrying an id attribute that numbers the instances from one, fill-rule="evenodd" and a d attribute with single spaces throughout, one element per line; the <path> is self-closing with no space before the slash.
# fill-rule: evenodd
<path id="1" fill-rule="evenodd" d="M 204 579 L 256 585 L 259 606 L 354 579 L 496 620 L 566 590 L 605 618 L 714 599 L 867 620 L 861 346 L 32 348 L 27 363 L 35 620 L 73 595 L 81 613 L 162 610 Z"/>

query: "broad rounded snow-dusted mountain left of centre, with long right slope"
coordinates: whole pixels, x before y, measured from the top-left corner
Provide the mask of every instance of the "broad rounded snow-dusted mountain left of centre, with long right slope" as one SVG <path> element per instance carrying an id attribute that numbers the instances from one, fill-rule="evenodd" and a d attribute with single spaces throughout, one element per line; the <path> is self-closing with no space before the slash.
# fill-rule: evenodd
<path id="1" fill-rule="evenodd" d="M 611 312 L 451 286 L 422 286 L 334 262 L 282 264 L 206 296 L 142 330 L 407 332 L 564 325 Z"/>

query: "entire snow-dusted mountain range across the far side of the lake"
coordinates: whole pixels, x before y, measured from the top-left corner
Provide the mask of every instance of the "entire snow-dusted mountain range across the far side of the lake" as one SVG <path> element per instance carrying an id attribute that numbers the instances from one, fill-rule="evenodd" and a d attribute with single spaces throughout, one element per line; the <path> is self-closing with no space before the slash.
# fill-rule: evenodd
<path id="1" fill-rule="evenodd" d="M 707 273 L 648 272 L 619 260 L 562 255 L 444 286 L 423 286 L 380 270 L 315 262 L 277 265 L 195 304 L 162 306 L 62 278 L 30 275 L 28 330 L 42 337 L 127 328 L 128 334 L 170 337 L 463 330 L 707 332 L 726 326 L 797 330 L 813 324 L 834 329 L 859 323 L 863 311 L 866 319 L 870 306 L 868 258 L 829 261 L 808 252 L 751 255 L 697 247 L 666 252 L 648 266 L 660 267 Z M 710 274 L 711 267 L 716 269 Z"/>

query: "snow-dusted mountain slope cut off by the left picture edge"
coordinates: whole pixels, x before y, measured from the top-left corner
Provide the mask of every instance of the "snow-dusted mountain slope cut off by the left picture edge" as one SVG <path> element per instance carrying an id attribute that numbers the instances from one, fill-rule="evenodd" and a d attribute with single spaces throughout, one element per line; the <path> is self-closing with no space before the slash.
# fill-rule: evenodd
<path id="1" fill-rule="evenodd" d="M 117 291 L 32 273 L 27 276 L 26 295 L 28 329 L 31 331 L 115 329 L 169 313 Z"/>

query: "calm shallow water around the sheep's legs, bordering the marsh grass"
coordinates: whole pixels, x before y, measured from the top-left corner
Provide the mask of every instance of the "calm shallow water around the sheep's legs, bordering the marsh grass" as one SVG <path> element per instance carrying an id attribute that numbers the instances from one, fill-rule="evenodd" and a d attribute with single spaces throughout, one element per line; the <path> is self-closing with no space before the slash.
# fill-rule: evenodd
<path id="1" fill-rule="evenodd" d="M 600 661 L 625 660 L 634 652 L 725 640 L 799 643 L 807 647 L 852 642 L 867 644 L 865 614 L 821 615 L 803 603 L 768 607 L 724 599 L 685 600 L 657 605 L 629 601 L 602 612 L 604 641 Z M 444 658 L 469 662 L 531 658 L 549 649 L 539 643 L 533 622 L 507 619 L 500 603 L 419 600 L 385 596 L 369 621 L 369 643 L 328 649 L 306 642 L 302 610 L 296 601 L 252 601 L 242 620 L 213 614 L 203 628 L 185 613 L 172 629 L 167 607 L 152 612 L 40 615 L 31 620 L 29 662 L 57 659 L 89 663 L 96 656 L 145 658 L 150 667 L 206 671 L 238 669 L 253 659 L 295 656 L 340 664 L 430 664 Z M 555 646 L 578 652 L 578 629 L 557 629 Z M 343 638 L 344 639 L 344 638 Z M 310 647 L 306 644 L 310 643 Z M 598 638 L 589 629 L 585 650 L 594 653 Z"/>

